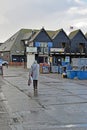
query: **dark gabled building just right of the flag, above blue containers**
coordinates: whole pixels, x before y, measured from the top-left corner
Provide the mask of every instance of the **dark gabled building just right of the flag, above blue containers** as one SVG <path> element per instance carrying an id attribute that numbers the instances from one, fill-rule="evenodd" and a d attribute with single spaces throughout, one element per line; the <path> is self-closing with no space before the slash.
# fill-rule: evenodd
<path id="1" fill-rule="evenodd" d="M 87 39 L 83 32 L 80 29 L 75 30 L 69 34 L 69 39 L 71 41 L 71 59 L 87 57 Z"/>

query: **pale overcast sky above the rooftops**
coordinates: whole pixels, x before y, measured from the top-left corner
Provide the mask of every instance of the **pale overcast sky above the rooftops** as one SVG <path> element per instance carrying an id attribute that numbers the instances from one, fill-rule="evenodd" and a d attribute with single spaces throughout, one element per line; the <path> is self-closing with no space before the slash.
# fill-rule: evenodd
<path id="1" fill-rule="evenodd" d="M 87 0 L 0 0 L 0 42 L 22 28 L 87 32 Z"/>

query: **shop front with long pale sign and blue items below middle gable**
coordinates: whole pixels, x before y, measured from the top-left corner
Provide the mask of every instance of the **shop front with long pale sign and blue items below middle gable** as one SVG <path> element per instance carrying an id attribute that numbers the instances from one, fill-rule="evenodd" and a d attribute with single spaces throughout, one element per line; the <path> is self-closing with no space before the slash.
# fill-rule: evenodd
<path id="1" fill-rule="evenodd" d="M 70 63 L 70 53 L 64 53 L 64 48 L 51 48 L 51 72 L 62 73 Z"/>

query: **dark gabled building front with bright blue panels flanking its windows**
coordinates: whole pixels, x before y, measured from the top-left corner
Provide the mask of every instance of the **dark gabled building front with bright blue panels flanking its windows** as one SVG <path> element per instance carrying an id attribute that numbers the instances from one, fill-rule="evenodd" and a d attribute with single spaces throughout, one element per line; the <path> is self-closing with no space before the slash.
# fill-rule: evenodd
<path id="1" fill-rule="evenodd" d="M 53 47 L 53 42 L 44 28 L 32 36 L 32 38 L 29 40 L 29 46 L 37 47 L 35 59 L 38 61 L 38 63 L 48 62 L 50 48 Z"/>

